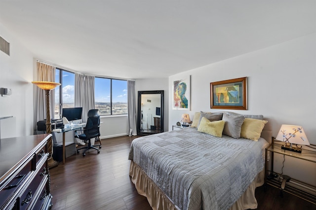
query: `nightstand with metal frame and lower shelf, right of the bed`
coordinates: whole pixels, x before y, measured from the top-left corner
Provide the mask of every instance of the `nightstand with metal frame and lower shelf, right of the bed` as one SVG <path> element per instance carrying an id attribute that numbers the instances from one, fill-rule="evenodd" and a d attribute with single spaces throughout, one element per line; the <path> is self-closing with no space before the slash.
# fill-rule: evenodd
<path id="1" fill-rule="evenodd" d="M 281 146 L 284 145 L 283 142 L 277 141 L 274 137 L 272 138 L 272 144 L 269 146 L 269 148 L 266 149 L 266 167 L 265 167 L 265 184 L 269 184 L 273 187 L 279 188 L 281 191 L 281 196 L 283 195 L 282 192 L 288 192 L 294 196 L 297 196 L 299 198 L 302 198 L 306 201 L 309 201 L 313 204 L 316 204 L 316 195 L 312 192 L 304 191 L 303 188 L 299 188 L 297 186 L 303 185 L 306 188 L 313 189 L 314 192 L 316 192 L 316 186 L 304 183 L 299 180 L 294 180 L 291 178 L 291 180 L 294 182 L 293 184 L 285 184 L 284 189 L 281 189 L 281 182 L 282 182 L 282 175 L 277 174 L 274 172 L 274 153 L 283 154 L 286 156 L 291 156 L 294 158 L 299 158 L 304 161 L 309 161 L 316 163 L 316 150 L 307 150 L 302 149 L 302 153 L 297 153 L 293 151 L 288 150 L 282 150 Z M 316 146 L 316 145 L 312 145 Z M 268 171 L 268 152 L 271 153 L 271 171 Z M 295 185 L 295 183 L 297 183 Z"/>

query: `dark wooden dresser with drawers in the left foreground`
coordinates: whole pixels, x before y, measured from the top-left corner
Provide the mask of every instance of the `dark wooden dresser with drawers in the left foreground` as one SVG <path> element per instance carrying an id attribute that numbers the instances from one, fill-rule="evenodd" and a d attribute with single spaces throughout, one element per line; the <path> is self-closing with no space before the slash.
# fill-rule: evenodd
<path id="1" fill-rule="evenodd" d="M 0 139 L 0 210 L 48 210 L 51 134 Z"/>

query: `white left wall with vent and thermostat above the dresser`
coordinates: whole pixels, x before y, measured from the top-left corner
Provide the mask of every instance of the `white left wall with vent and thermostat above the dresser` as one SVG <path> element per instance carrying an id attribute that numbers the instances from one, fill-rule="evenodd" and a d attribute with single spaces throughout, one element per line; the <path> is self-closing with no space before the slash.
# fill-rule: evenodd
<path id="1" fill-rule="evenodd" d="M 0 51 L 0 88 L 12 95 L 0 95 L 1 138 L 33 135 L 33 55 L 0 24 L 0 36 L 10 43 L 10 56 Z"/>

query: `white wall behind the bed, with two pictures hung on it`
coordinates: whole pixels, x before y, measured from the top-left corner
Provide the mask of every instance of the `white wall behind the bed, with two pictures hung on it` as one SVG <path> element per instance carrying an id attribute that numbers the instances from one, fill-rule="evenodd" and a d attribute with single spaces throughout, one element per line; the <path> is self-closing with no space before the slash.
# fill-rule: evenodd
<path id="1" fill-rule="evenodd" d="M 273 136 L 281 124 L 300 125 L 309 142 L 316 145 L 316 33 L 170 76 L 170 101 L 173 81 L 186 75 L 191 75 L 191 111 L 172 110 L 170 103 L 169 129 L 183 113 L 189 113 L 193 120 L 194 112 L 220 111 L 210 109 L 211 82 L 248 77 L 248 110 L 231 111 L 264 115 L 273 127 Z M 294 158 L 290 158 L 286 158 L 284 174 L 295 179 L 302 173 L 303 181 L 316 185 L 315 163 L 298 161 L 292 165 Z M 283 157 L 276 158 L 276 165 L 282 161 Z M 280 172 L 280 167 L 276 167 L 276 172 Z"/>

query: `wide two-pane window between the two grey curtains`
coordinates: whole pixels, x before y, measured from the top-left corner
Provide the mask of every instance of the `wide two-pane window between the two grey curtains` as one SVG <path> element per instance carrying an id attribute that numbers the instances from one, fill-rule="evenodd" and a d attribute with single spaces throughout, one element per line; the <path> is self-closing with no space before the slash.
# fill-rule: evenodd
<path id="1" fill-rule="evenodd" d="M 127 114 L 127 81 L 95 78 L 95 108 L 100 115 Z"/>

